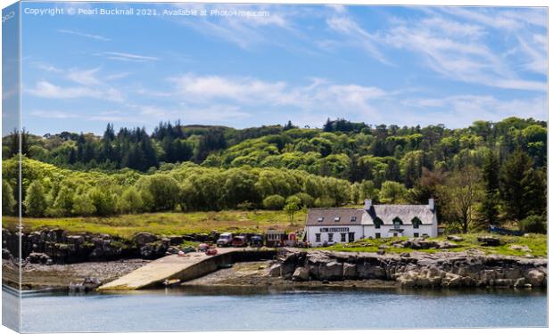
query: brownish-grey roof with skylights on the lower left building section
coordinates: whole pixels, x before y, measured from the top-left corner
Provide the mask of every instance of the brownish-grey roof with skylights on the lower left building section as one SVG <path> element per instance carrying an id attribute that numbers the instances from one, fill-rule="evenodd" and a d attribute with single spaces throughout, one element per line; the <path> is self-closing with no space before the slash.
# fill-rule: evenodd
<path id="1" fill-rule="evenodd" d="M 306 224 L 308 226 L 360 225 L 363 212 L 365 211 L 359 208 L 310 208 Z M 340 219 L 336 221 L 336 217 Z"/>

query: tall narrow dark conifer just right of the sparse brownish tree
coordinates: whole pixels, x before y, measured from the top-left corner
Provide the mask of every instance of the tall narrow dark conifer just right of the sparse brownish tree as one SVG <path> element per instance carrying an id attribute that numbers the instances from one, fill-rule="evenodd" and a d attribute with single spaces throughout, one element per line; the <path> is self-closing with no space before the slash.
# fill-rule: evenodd
<path id="1" fill-rule="evenodd" d="M 499 159 L 488 151 L 483 166 L 483 201 L 479 208 L 480 223 L 490 226 L 499 224 Z"/>

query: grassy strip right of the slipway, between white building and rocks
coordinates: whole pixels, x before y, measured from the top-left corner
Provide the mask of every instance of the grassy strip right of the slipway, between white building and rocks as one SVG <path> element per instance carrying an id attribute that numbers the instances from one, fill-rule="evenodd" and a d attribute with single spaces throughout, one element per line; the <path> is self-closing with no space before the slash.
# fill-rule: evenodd
<path id="1" fill-rule="evenodd" d="M 459 235 L 463 238 L 463 241 L 453 242 L 458 244 L 458 248 L 449 248 L 447 249 L 450 252 L 460 252 L 468 249 L 479 249 L 486 254 L 500 254 L 500 255 L 512 255 L 517 257 L 523 257 L 525 254 L 530 254 L 534 257 L 547 257 L 548 255 L 548 240 L 547 235 L 544 234 L 528 234 L 525 237 L 516 237 L 516 236 L 497 236 L 501 240 L 501 246 L 497 247 L 487 247 L 482 246 L 478 242 L 477 237 L 483 235 L 480 234 L 463 234 Z M 408 240 L 409 238 L 386 238 L 386 239 L 375 239 L 375 240 L 358 240 L 348 244 L 335 244 L 330 247 L 321 248 L 326 250 L 339 250 L 339 251 L 349 251 L 349 252 L 376 252 L 381 245 L 388 246 L 385 248 L 386 252 L 393 253 L 404 253 L 411 251 L 421 251 L 426 253 L 435 253 L 442 251 L 442 249 L 411 249 L 411 248 L 394 248 L 392 246 L 392 241 L 394 240 Z M 428 240 L 446 240 L 445 237 L 438 238 L 429 238 Z M 513 245 L 526 246 L 530 249 L 529 252 L 518 249 L 511 249 Z M 385 247 L 384 246 L 384 247 Z"/>

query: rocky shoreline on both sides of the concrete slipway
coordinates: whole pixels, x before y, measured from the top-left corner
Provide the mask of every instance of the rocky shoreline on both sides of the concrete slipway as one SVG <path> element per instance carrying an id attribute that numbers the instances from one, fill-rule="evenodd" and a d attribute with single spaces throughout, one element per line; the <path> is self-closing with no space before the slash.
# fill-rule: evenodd
<path id="1" fill-rule="evenodd" d="M 306 256 L 307 258 L 301 260 Z M 95 277 L 105 284 L 150 262 L 144 259 L 126 259 L 70 265 L 28 263 L 22 267 L 21 288 L 24 291 L 68 290 L 71 282 L 78 283 L 89 277 Z M 352 264 L 355 263 L 357 274 L 349 275 Z M 343 274 L 332 278 L 335 266 L 343 267 Z M 471 266 L 477 269 L 471 270 Z M 323 269 L 330 272 L 325 273 Z M 443 272 L 444 269 L 446 272 Z M 16 287 L 14 278 L 19 277 L 17 267 L 10 260 L 3 260 L 3 270 L 3 284 Z M 512 276 L 512 279 L 506 278 L 518 272 L 517 275 L 520 275 L 522 280 L 528 281 L 524 276 L 527 277 L 530 271 L 542 274 L 544 280 L 541 284 L 517 285 L 513 284 L 518 280 L 515 276 Z M 302 278 L 298 272 L 307 272 L 310 275 Z M 463 277 L 458 275 L 461 272 L 464 272 Z M 420 276 L 423 273 L 426 273 L 425 277 Z M 431 273 L 437 276 L 434 277 Z M 433 283 L 440 278 L 440 273 L 442 283 Z M 324 279 L 324 275 L 330 276 Z M 472 282 L 464 283 L 470 275 L 474 277 Z M 459 277 L 456 278 L 457 276 Z M 478 277 L 484 276 L 488 281 L 478 281 Z M 453 280 L 457 280 L 458 284 L 451 284 Z M 283 248 L 276 260 L 236 262 L 231 267 L 220 268 L 202 277 L 175 285 L 177 289 L 541 289 L 547 285 L 547 259 L 486 257 L 448 252 L 433 255 L 415 253 L 409 257 L 380 256 L 373 253 L 355 254 L 321 250 L 306 252 Z"/>

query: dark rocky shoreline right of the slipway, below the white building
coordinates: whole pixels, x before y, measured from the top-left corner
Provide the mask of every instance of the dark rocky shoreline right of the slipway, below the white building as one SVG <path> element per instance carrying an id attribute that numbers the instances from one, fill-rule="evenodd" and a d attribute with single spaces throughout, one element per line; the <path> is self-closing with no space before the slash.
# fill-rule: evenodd
<path id="1" fill-rule="evenodd" d="M 290 281 L 394 281 L 402 288 L 547 286 L 547 259 L 482 252 L 401 255 L 283 248 L 268 275 Z"/>

